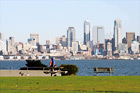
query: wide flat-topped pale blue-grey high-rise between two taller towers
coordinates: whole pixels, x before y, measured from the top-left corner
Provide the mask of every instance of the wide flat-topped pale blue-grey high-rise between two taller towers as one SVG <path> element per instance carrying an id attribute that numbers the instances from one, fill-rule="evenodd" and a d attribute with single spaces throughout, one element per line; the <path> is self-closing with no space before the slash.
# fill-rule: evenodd
<path id="1" fill-rule="evenodd" d="M 93 27 L 93 45 L 104 44 L 104 27 Z"/>

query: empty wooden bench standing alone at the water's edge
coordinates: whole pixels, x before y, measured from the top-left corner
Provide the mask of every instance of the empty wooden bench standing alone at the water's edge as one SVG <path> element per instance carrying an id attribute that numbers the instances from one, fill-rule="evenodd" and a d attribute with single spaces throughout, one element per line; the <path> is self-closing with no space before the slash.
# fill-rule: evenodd
<path id="1" fill-rule="evenodd" d="M 98 75 L 98 73 L 110 73 L 110 75 L 114 73 L 113 67 L 95 67 L 93 69 L 96 75 Z"/>

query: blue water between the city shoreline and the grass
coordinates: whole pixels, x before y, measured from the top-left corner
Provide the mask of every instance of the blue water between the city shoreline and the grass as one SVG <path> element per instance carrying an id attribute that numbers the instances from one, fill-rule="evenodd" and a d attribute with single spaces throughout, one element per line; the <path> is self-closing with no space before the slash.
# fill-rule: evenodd
<path id="1" fill-rule="evenodd" d="M 49 60 L 42 60 L 49 66 Z M 78 76 L 95 76 L 94 67 L 113 67 L 112 76 L 140 76 L 140 60 L 56 60 L 57 66 L 73 64 L 79 68 Z M 15 69 L 26 67 L 26 61 L 0 61 L 0 69 Z M 108 76 L 109 73 L 99 73 L 98 76 Z"/>

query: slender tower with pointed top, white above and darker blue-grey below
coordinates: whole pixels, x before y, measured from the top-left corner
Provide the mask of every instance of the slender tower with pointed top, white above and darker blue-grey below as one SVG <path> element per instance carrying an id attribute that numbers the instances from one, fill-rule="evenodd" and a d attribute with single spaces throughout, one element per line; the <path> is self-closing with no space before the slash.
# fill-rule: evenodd
<path id="1" fill-rule="evenodd" d="M 90 41 L 90 22 L 84 21 L 84 45 Z"/>

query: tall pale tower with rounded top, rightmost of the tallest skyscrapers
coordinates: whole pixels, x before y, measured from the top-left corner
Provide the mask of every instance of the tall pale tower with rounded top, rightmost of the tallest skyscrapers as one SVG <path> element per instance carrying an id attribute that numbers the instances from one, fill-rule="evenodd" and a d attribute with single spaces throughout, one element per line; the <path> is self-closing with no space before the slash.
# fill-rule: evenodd
<path id="1" fill-rule="evenodd" d="M 122 43 L 122 21 L 120 19 L 114 21 L 114 40 L 115 48 L 117 48 L 118 44 Z"/>

